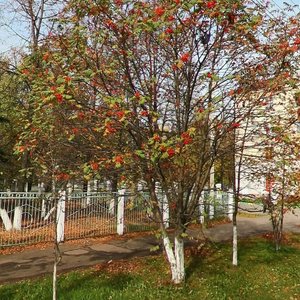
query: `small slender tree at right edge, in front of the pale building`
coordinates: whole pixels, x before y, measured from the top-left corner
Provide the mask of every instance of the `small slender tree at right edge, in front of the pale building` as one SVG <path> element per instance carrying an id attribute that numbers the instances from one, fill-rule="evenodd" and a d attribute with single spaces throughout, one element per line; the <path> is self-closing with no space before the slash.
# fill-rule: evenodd
<path id="1" fill-rule="evenodd" d="M 286 86 L 270 95 L 256 114 L 254 151 L 245 160 L 250 180 L 265 185 L 276 250 L 280 249 L 284 214 L 299 205 L 299 127 L 295 90 Z M 255 179 L 254 179 L 255 178 Z"/>

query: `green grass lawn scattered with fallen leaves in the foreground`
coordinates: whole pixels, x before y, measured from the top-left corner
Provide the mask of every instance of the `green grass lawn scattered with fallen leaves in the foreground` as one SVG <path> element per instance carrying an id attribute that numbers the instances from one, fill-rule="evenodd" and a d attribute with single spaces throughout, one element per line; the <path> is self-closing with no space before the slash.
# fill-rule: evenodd
<path id="1" fill-rule="evenodd" d="M 95 266 L 59 277 L 59 299 L 300 299 L 300 236 L 290 235 L 279 253 L 264 238 L 240 242 L 239 266 L 229 244 L 187 253 L 187 280 L 170 283 L 162 256 Z M 0 286 L 0 299 L 52 299 L 51 277 Z"/>

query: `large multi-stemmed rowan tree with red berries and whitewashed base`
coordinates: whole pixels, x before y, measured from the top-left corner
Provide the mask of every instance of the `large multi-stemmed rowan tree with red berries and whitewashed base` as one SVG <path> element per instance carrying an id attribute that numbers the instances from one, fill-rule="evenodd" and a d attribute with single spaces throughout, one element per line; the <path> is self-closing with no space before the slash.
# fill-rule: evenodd
<path id="1" fill-rule="evenodd" d="M 183 237 L 221 145 L 261 105 L 253 89 L 264 84 L 268 92 L 277 76 L 281 56 L 261 34 L 265 13 L 244 1 L 72 0 L 40 47 L 41 66 L 23 69 L 35 87 L 34 127 L 49 127 L 42 120 L 51 115 L 63 141 L 75 122 L 92 149 L 85 166 L 145 182 L 174 283 L 184 280 Z M 46 135 L 23 137 L 40 160 Z"/>

